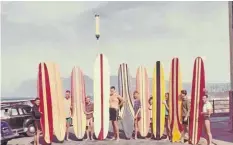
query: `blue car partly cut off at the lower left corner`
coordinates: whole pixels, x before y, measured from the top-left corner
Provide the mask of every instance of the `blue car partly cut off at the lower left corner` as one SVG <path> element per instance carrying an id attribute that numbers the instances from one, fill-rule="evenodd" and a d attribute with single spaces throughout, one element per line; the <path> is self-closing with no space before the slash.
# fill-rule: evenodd
<path id="1" fill-rule="evenodd" d="M 13 133 L 9 124 L 5 121 L 1 121 L 1 145 L 7 145 L 7 142 L 17 136 Z"/>

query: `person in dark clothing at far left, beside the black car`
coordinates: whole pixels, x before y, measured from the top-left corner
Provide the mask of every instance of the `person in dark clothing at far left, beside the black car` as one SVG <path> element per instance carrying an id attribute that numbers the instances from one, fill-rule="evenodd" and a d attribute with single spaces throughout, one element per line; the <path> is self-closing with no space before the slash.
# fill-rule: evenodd
<path id="1" fill-rule="evenodd" d="M 36 127 L 36 133 L 34 136 L 34 145 L 39 145 L 39 137 L 40 137 L 40 117 L 42 115 L 42 112 L 39 111 L 39 105 L 40 105 L 40 99 L 35 99 L 35 104 L 32 107 L 32 116 L 34 119 L 35 127 Z"/>

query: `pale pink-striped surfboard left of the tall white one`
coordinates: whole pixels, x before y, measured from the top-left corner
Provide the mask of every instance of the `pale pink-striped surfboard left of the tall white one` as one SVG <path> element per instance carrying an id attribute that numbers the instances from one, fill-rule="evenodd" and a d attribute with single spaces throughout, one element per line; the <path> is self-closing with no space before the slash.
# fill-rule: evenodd
<path id="1" fill-rule="evenodd" d="M 83 72 L 74 67 L 71 73 L 71 106 L 74 134 L 78 139 L 83 139 L 86 131 L 85 97 Z"/>

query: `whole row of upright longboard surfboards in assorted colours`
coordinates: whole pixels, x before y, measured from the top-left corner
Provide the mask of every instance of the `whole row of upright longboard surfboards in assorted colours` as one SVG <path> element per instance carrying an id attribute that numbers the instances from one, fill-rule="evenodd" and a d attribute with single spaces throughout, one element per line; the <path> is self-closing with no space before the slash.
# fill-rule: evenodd
<path id="1" fill-rule="evenodd" d="M 183 130 L 181 125 L 181 99 L 179 98 L 182 89 L 182 79 L 179 59 L 173 58 L 170 71 L 169 86 L 169 124 L 172 132 L 172 142 L 180 140 Z M 153 134 L 161 138 L 165 125 L 165 80 L 164 69 L 160 61 L 157 61 L 153 71 L 152 81 L 152 116 L 149 112 L 148 100 L 149 80 L 146 68 L 140 66 L 136 74 L 136 90 L 140 93 L 141 119 L 139 121 L 139 132 L 145 137 L 149 132 L 150 118 L 152 117 Z M 131 75 L 127 64 L 120 65 L 118 70 L 119 94 L 124 98 L 125 103 L 120 109 L 119 122 L 124 129 L 127 138 L 132 137 L 134 130 L 133 96 L 131 88 Z M 94 63 L 94 133 L 97 139 L 103 140 L 109 131 L 109 94 L 110 94 L 110 71 L 108 60 L 103 54 L 99 54 Z M 200 57 L 196 58 L 193 69 L 191 112 L 190 112 L 190 143 L 197 144 L 202 128 L 201 97 L 205 88 L 204 64 Z M 38 72 L 38 96 L 41 99 L 40 109 L 42 114 L 41 126 L 44 140 L 51 143 L 53 135 L 59 141 L 63 141 L 66 128 L 66 114 L 64 110 L 64 96 L 60 73 L 55 63 L 40 63 Z M 71 105 L 72 119 L 75 136 L 82 139 L 85 134 L 86 116 L 85 109 L 85 81 L 84 74 L 79 67 L 74 67 L 71 73 Z"/>

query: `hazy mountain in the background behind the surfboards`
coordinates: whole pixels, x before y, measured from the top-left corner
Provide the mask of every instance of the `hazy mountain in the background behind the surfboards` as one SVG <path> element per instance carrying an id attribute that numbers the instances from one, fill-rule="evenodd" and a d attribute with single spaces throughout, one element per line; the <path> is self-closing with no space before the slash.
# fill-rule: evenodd
<path id="1" fill-rule="evenodd" d="M 93 80 L 89 76 L 84 76 L 85 80 L 85 87 L 86 87 L 86 94 L 93 95 Z M 70 90 L 70 78 L 62 78 L 63 82 L 63 91 Z M 132 91 L 136 88 L 136 79 L 132 78 Z M 118 90 L 118 77 L 111 76 L 110 77 L 110 84 L 115 86 Z M 149 78 L 149 84 L 151 86 L 152 79 Z M 23 98 L 23 97 L 36 97 L 36 80 L 27 80 L 24 81 L 17 89 L 13 90 L 11 93 L 2 94 L 4 98 Z M 191 92 L 191 83 L 183 83 L 183 89 L 187 90 L 188 93 Z M 168 91 L 169 82 L 166 81 L 166 90 Z M 208 89 L 211 96 L 226 96 L 227 91 L 230 90 L 229 83 L 206 83 L 206 88 Z M 151 88 L 150 88 L 151 92 Z"/>

